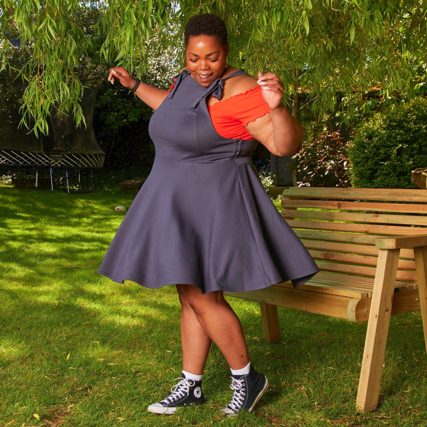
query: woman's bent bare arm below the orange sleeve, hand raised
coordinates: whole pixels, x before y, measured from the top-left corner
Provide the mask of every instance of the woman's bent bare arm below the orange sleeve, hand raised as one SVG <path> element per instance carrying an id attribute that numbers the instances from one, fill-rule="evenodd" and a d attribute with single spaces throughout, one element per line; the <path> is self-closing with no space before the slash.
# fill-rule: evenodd
<path id="1" fill-rule="evenodd" d="M 301 124 L 281 103 L 283 83 L 274 73 L 258 73 L 263 97 L 270 113 L 248 123 L 247 131 L 262 143 L 272 154 L 287 156 L 298 152 L 304 136 Z"/>

